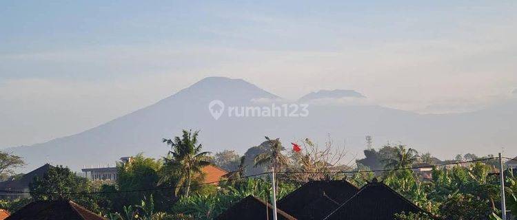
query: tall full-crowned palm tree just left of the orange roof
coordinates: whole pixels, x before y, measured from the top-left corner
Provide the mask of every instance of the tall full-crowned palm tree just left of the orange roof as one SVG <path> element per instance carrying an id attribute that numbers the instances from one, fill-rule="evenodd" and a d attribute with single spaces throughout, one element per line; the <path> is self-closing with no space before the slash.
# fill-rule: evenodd
<path id="1" fill-rule="evenodd" d="M 185 197 L 188 197 L 190 191 L 190 184 L 194 175 L 201 175 L 201 168 L 210 164 L 207 162 L 207 155 L 210 152 L 201 152 L 202 144 L 197 144 L 197 137 L 199 131 L 183 130 L 183 136 L 174 137 L 174 140 L 163 138 L 163 142 L 170 145 L 172 151 L 169 151 L 168 157 L 165 159 L 165 173 L 160 180 L 160 184 L 170 182 L 176 179 L 176 195 L 179 191 L 179 186 L 183 186 Z"/>

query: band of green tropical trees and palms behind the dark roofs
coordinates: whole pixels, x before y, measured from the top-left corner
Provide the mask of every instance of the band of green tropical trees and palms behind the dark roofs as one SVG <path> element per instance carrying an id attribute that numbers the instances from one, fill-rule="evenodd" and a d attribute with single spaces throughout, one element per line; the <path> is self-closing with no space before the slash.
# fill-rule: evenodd
<path id="1" fill-rule="evenodd" d="M 439 160 L 403 144 L 368 148 L 364 159 L 347 161 L 345 147 L 336 146 L 330 137 L 321 145 L 299 140 L 303 149 L 299 152 L 285 148 L 278 138 L 265 137 L 244 155 L 203 151 L 199 131 L 184 130 L 163 142 L 170 147 L 166 157 L 135 155 L 131 162 L 117 164 L 116 181 L 91 181 L 67 167 L 53 166 L 30 183 L 30 199 L 3 200 L 0 206 L 14 212 L 32 200 L 72 199 L 108 219 L 213 219 L 248 195 L 268 200 L 270 179 L 258 174 L 274 167 L 278 198 L 310 180 L 346 179 L 361 187 L 377 178 L 427 211 L 400 213 L 397 219 L 497 219 L 501 212 L 495 159 L 434 166 L 432 177 L 426 179 L 411 168 L 420 163 L 437 165 Z M 452 161 L 491 157 L 467 154 Z M 12 170 L 23 164 L 21 157 L 0 153 L 0 176 L 16 178 Z M 227 179 L 218 185 L 201 184 L 201 170 L 208 164 L 229 170 Z M 516 215 L 517 178 L 510 170 L 503 172 L 507 208 Z"/>

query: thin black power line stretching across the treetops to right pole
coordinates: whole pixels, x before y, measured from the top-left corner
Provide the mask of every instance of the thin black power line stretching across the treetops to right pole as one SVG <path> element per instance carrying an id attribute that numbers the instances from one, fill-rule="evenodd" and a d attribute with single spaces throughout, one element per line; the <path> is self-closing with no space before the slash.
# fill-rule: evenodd
<path id="1" fill-rule="evenodd" d="M 506 158 L 506 157 L 505 157 Z M 327 171 L 327 172 L 307 172 L 307 171 L 275 171 L 274 173 L 307 173 L 307 174 L 318 174 L 318 173 L 376 173 L 376 172 L 388 172 L 388 171 L 396 171 L 396 170 L 413 170 L 418 168 L 433 168 L 436 166 L 449 166 L 449 165 L 458 165 L 458 164 L 467 164 L 472 162 L 483 162 L 490 159 L 496 159 L 496 157 L 488 157 L 483 159 L 474 159 L 470 161 L 465 162 L 451 162 L 451 163 L 445 163 L 445 164 L 436 164 L 436 165 L 429 165 L 429 166 L 415 166 L 415 167 L 407 167 L 407 168 L 394 168 L 394 169 L 383 169 L 383 170 L 356 170 L 356 171 L 348 171 L 348 170 L 338 170 L 338 171 Z M 517 159 L 515 159 L 517 160 Z M 183 187 L 191 187 L 191 186 L 203 186 L 208 184 L 219 184 L 221 182 L 225 181 L 234 181 L 239 179 L 247 179 L 250 177 L 257 177 L 260 175 L 266 175 L 270 174 L 272 172 L 264 172 L 264 173 L 258 173 L 254 175 L 247 175 L 244 177 L 236 177 L 232 179 L 223 179 L 219 181 L 210 181 L 205 182 L 201 184 L 190 184 L 190 185 L 182 185 L 182 186 L 170 186 L 170 187 L 162 187 L 162 188 L 145 188 L 145 189 L 138 189 L 138 190 L 120 190 L 120 191 L 111 191 L 111 192 L 104 192 L 104 191 L 97 191 L 97 192 L 25 192 L 25 191 L 11 191 L 11 190 L 0 190 L 0 192 L 3 193 L 9 193 L 12 195 L 20 195 L 20 194 L 34 194 L 34 195 L 99 195 L 99 194 L 111 194 L 111 193 L 127 193 L 127 192 L 147 192 L 147 191 L 159 191 L 159 190 L 172 190 L 176 188 L 183 188 Z"/>

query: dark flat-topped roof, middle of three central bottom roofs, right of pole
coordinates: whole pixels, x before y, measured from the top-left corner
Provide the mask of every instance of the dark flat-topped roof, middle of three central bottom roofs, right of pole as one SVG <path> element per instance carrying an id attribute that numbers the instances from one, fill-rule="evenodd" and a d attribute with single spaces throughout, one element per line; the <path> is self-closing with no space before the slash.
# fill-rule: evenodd
<path id="1" fill-rule="evenodd" d="M 323 199 L 326 203 L 327 200 L 322 198 L 324 197 L 323 195 L 326 195 L 325 197 L 327 197 L 327 199 L 341 204 L 356 195 L 358 191 L 359 189 L 356 188 L 356 186 L 346 180 L 309 181 L 307 184 L 304 184 L 294 190 L 294 192 L 280 199 L 277 203 L 278 208 L 281 208 L 298 219 L 314 219 L 314 217 L 320 216 L 321 213 L 328 214 L 328 212 L 337 208 L 314 203 L 314 201 L 318 199 Z M 329 208 L 333 209 L 329 210 Z M 307 209 L 314 210 L 313 216 L 301 215 L 301 213 L 307 214 Z M 316 210 L 318 210 L 318 212 L 316 212 Z"/>

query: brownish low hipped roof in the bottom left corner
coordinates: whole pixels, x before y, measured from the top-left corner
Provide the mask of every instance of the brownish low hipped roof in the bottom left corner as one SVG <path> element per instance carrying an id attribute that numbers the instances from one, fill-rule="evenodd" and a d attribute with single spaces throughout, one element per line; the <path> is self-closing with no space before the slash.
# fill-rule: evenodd
<path id="1" fill-rule="evenodd" d="M 32 201 L 6 220 L 107 220 L 70 200 Z"/>

